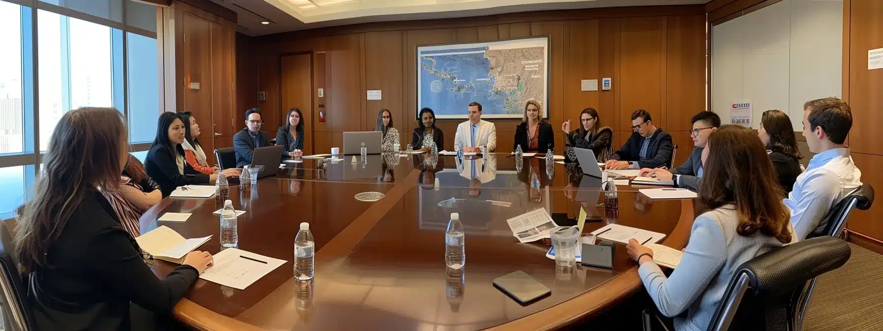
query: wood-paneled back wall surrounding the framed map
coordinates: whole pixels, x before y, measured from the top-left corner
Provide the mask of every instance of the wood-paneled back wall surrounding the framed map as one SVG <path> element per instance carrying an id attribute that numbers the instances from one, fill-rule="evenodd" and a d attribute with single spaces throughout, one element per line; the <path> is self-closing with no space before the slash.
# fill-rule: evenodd
<path id="1" fill-rule="evenodd" d="M 505 22 L 505 23 L 501 23 Z M 417 45 L 468 41 L 500 41 L 546 35 L 550 40 L 549 122 L 560 131 L 562 121 L 578 124 L 586 107 L 600 112 L 601 122 L 615 131 L 616 147 L 630 134 L 630 114 L 647 109 L 657 126 L 680 145 L 676 162 L 692 148 L 690 117 L 706 109 L 706 19 L 702 5 L 656 6 L 585 11 L 541 11 L 484 18 L 387 22 L 275 34 L 253 40 L 240 58 L 258 65 L 258 90 L 267 101 L 257 104 L 271 131 L 283 122 L 280 68 L 282 56 L 313 54 L 313 146 L 315 153 L 339 147 L 341 132 L 373 130 L 376 114 L 389 109 L 411 141 L 418 126 L 415 51 Z M 582 92 L 580 79 L 613 79 L 611 91 Z M 251 87 L 245 87 L 251 88 Z M 325 97 L 316 90 L 324 88 Z M 381 101 L 367 101 L 366 90 L 381 90 Z M 324 109 L 319 108 L 321 104 Z M 241 105 L 237 116 L 250 106 Z M 303 107 L 301 107 L 303 109 Z M 318 123 L 320 110 L 327 122 Z M 466 109 L 464 109 L 465 113 Z M 518 121 L 494 121 L 499 152 L 509 152 Z M 453 147 L 457 122 L 439 122 L 445 148 Z M 557 150 L 563 140 L 556 134 Z M 309 138 L 307 138 L 309 139 Z"/>

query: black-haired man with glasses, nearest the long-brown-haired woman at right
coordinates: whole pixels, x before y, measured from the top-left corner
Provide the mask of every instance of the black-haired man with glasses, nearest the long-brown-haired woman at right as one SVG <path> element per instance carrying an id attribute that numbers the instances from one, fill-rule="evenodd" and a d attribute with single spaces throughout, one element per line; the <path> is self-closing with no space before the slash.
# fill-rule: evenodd
<path id="1" fill-rule="evenodd" d="M 721 117 L 713 111 L 702 111 L 694 115 L 690 122 L 693 129 L 690 137 L 693 139 L 693 151 L 690 158 L 683 165 L 669 172 L 665 167 L 661 168 L 644 168 L 641 169 L 639 176 L 649 177 L 656 175 L 663 181 L 672 181 L 675 187 L 683 187 L 692 192 L 699 190 L 699 184 L 702 183 L 702 149 L 706 147 L 708 136 L 721 127 Z"/>

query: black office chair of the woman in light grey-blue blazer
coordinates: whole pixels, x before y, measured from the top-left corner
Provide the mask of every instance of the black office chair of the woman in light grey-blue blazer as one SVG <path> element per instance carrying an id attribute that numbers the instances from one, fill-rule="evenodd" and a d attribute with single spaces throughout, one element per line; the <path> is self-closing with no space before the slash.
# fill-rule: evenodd
<path id="1" fill-rule="evenodd" d="M 843 266 L 851 252 L 841 238 L 816 237 L 743 263 L 730 279 L 707 330 L 794 330 L 793 297 L 810 279 Z M 644 312 L 645 331 L 668 331 L 661 323 L 654 325 L 654 320 L 659 317 Z"/>

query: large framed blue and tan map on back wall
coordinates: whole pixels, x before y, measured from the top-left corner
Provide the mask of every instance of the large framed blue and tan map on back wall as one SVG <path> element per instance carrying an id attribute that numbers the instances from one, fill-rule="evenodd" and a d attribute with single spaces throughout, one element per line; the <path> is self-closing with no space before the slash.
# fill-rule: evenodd
<path id="1" fill-rule="evenodd" d="M 548 118 L 548 37 L 470 42 L 417 48 L 417 109 L 438 119 L 467 118 L 470 102 L 485 119 L 520 119 L 525 102 L 542 105 Z"/>

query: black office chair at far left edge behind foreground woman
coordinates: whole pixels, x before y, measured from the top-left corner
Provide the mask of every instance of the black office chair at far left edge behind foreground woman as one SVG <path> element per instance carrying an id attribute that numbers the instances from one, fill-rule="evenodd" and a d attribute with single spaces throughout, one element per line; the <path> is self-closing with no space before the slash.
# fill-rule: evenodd
<path id="1" fill-rule="evenodd" d="M 10 220 L 11 221 L 11 220 Z M 19 274 L 18 260 L 13 258 L 12 233 L 6 222 L 0 222 L 0 304 L 3 305 L 4 327 L 14 331 L 36 330 L 34 312 L 27 303 L 27 288 Z"/>

